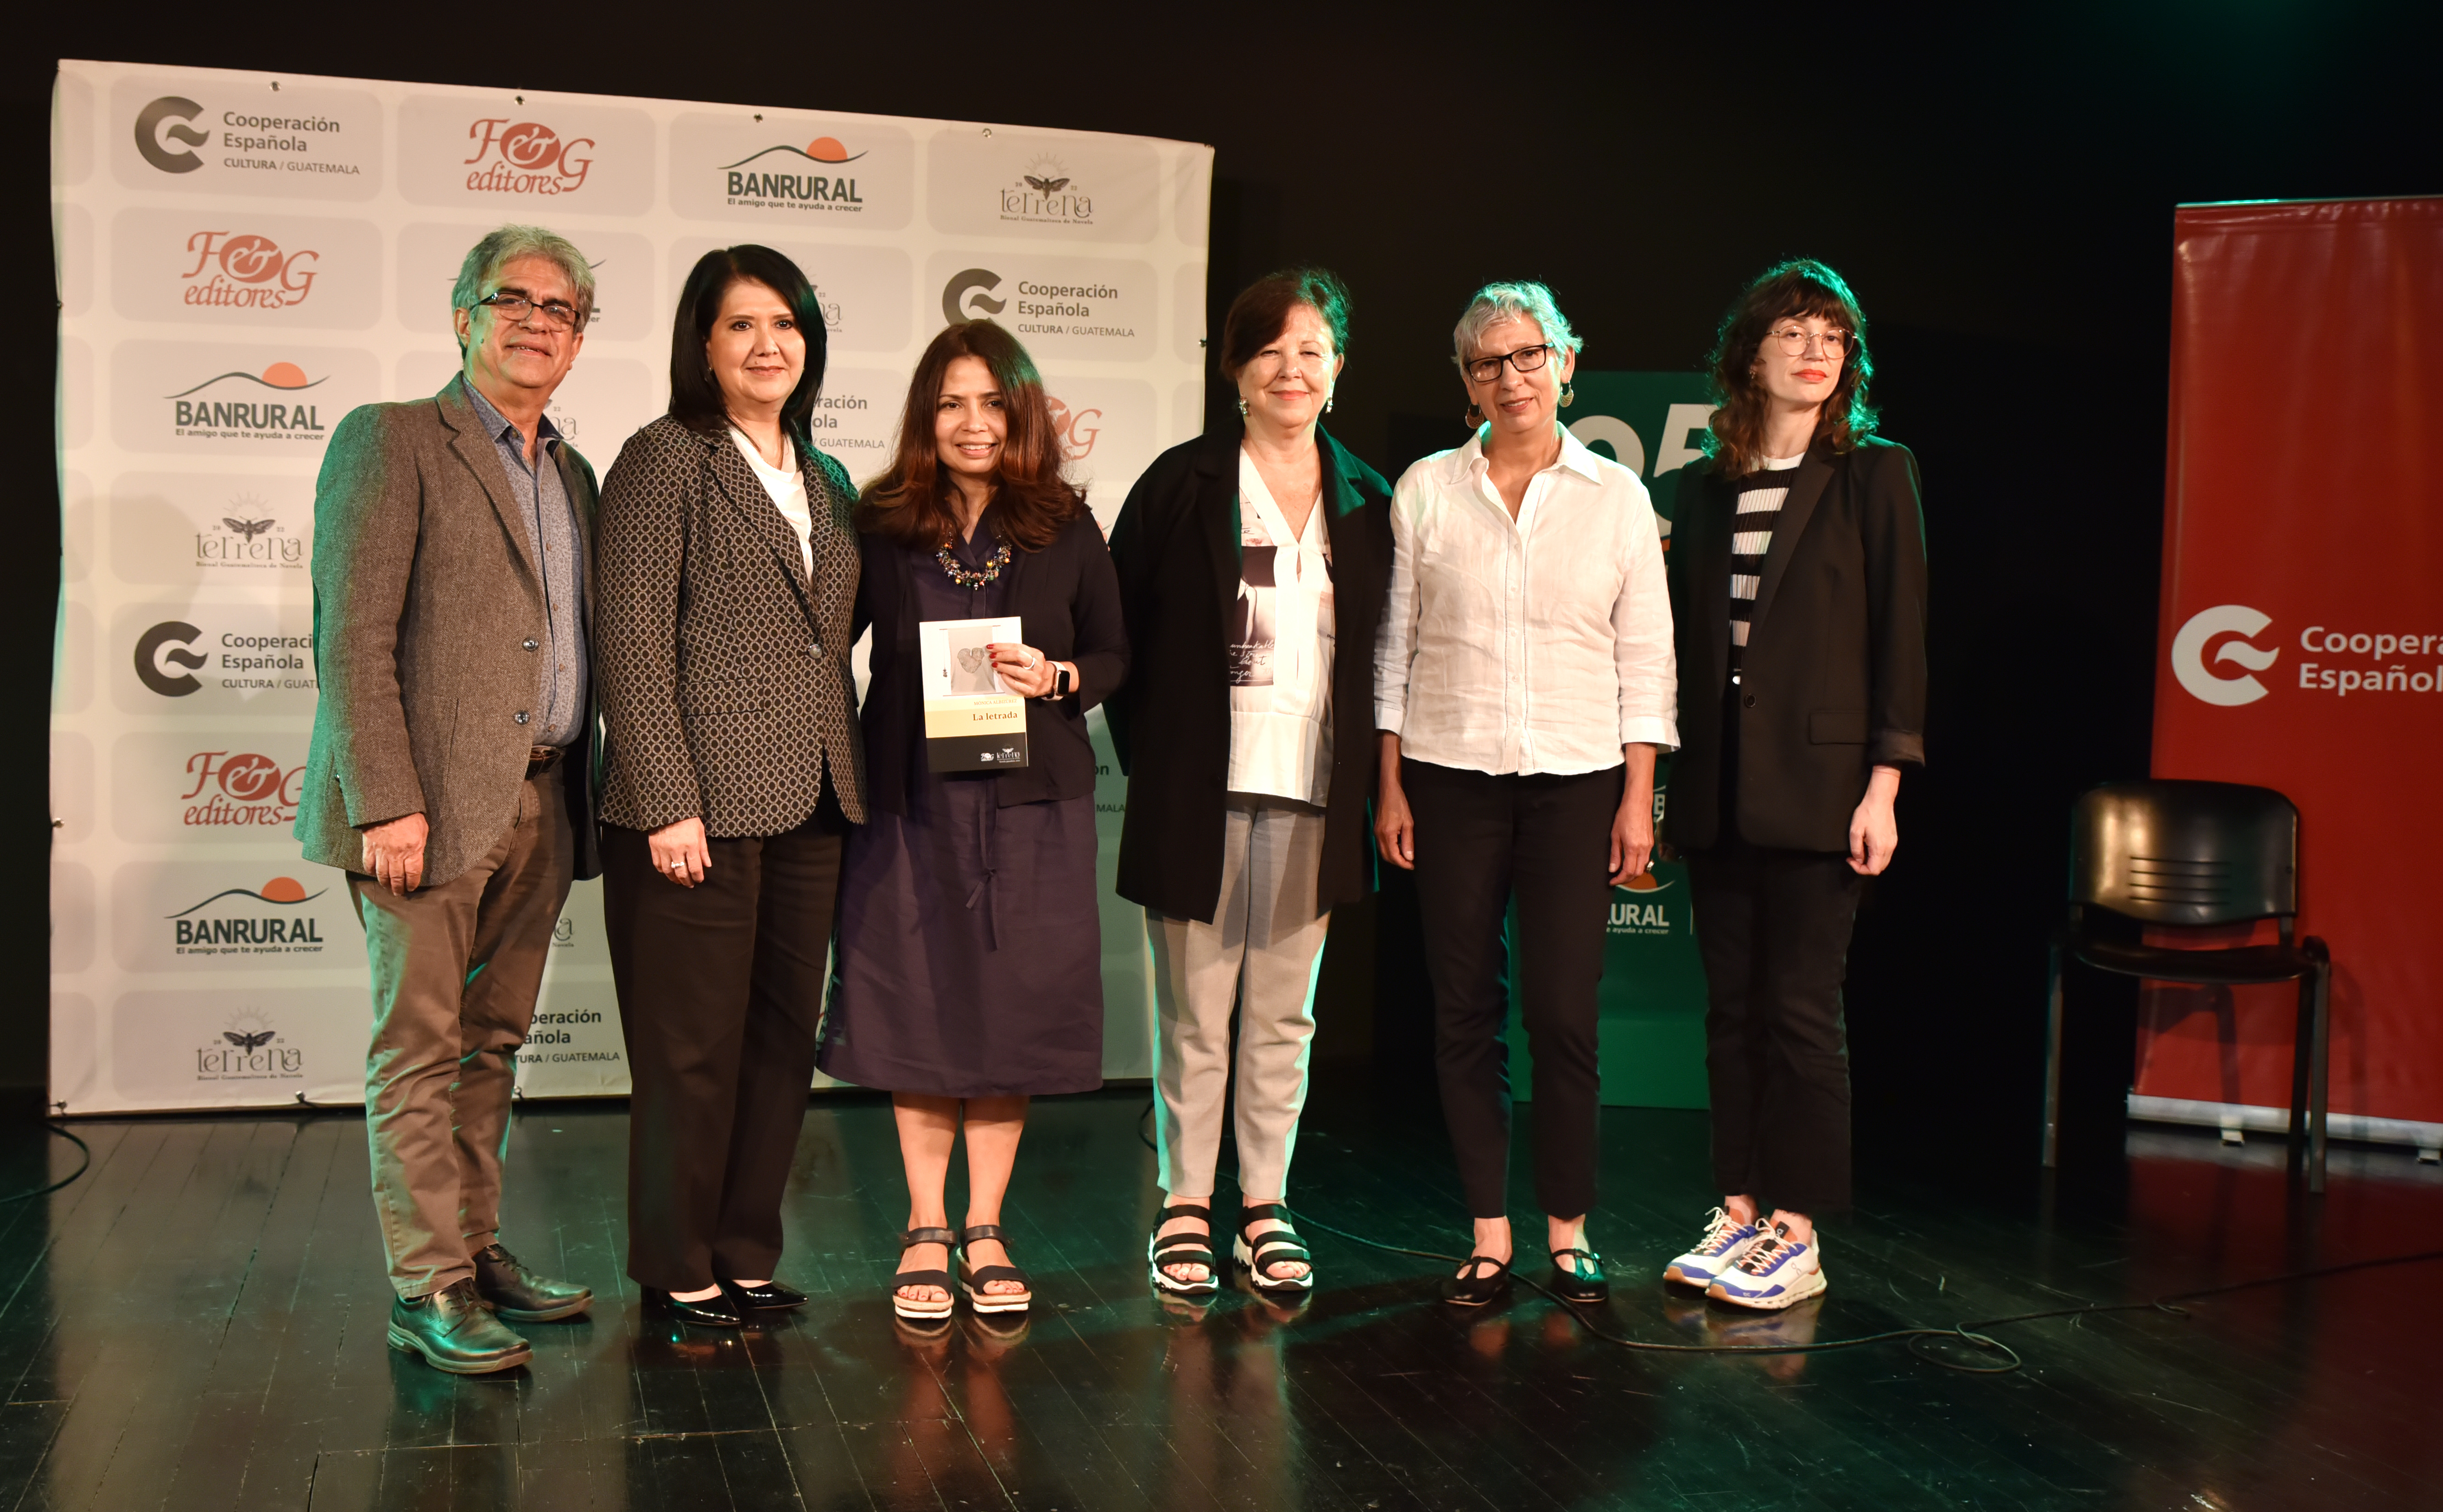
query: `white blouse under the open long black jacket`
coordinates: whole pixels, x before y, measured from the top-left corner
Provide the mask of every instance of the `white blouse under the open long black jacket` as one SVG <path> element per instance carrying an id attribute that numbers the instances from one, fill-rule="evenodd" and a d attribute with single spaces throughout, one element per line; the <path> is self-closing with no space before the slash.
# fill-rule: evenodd
<path id="1" fill-rule="evenodd" d="M 1229 623 L 1229 789 L 1322 806 L 1331 796 L 1331 532 L 1305 532 L 1239 452 L 1239 598 Z"/>

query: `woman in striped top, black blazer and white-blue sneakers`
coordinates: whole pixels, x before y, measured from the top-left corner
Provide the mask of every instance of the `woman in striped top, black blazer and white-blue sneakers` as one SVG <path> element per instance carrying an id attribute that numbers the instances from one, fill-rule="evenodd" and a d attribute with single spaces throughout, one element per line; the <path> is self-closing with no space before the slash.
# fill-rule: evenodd
<path id="1" fill-rule="evenodd" d="M 1688 852 L 1725 1197 L 1664 1278 L 1757 1309 L 1825 1290 L 1849 926 L 1898 845 L 1901 769 L 1925 762 L 1918 459 L 1874 435 L 1871 374 L 1840 274 L 1757 278 L 1722 320 L 1710 459 L 1671 532 L 1686 745 L 1664 833 Z"/>

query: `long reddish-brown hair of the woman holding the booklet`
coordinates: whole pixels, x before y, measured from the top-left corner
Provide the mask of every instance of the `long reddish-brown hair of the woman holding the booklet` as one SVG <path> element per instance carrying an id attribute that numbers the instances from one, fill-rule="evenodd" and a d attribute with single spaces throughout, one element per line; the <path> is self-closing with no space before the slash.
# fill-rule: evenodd
<path id="1" fill-rule="evenodd" d="M 950 513 L 950 479 L 941 467 L 941 442 L 933 440 L 933 415 L 950 364 L 972 357 L 1002 391 L 1002 415 L 1009 435 L 1002 440 L 1002 476 L 992 503 L 999 506 L 1002 540 L 1021 552 L 1041 552 L 1060 530 L 1085 513 L 1085 493 L 1060 476 L 1060 435 L 1053 405 L 1043 393 L 1043 374 L 1019 337 L 989 320 L 963 320 L 943 327 L 909 379 L 909 401 L 899 410 L 899 442 L 892 467 L 865 484 L 857 501 L 857 530 L 872 530 L 919 552 L 950 545 L 958 518 Z"/>

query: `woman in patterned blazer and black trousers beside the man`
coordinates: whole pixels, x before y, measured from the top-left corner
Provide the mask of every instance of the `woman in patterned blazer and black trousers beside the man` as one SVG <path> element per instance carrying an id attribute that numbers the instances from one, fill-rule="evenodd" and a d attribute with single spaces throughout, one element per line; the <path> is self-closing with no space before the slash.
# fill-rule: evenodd
<path id="1" fill-rule="evenodd" d="M 855 489 L 809 445 L 823 315 L 770 247 L 706 252 L 669 413 L 603 484 L 594 664 L 603 916 L 628 1072 L 628 1275 L 691 1324 L 806 1297 L 779 1199 L 814 1082 L 840 840 L 865 823 L 848 672 Z"/>

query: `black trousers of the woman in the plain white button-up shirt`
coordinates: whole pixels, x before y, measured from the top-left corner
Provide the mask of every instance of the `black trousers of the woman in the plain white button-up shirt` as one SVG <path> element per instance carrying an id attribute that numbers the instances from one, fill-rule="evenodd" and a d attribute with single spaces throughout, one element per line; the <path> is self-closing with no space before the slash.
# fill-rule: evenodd
<path id="1" fill-rule="evenodd" d="M 1595 1207 L 1595 987 L 1612 901 L 1612 813 L 1625 767 L 1493 777 L 1400 762 L 1417 818 L 1417 911 L 1434 982 L 1441 1121 L 1468 1214 L 1510 1214 L 1510 950 L 1520 904 L 1520 1006 L 1534 1053 L 1534 1192 L 1556 1219 Z"/>

